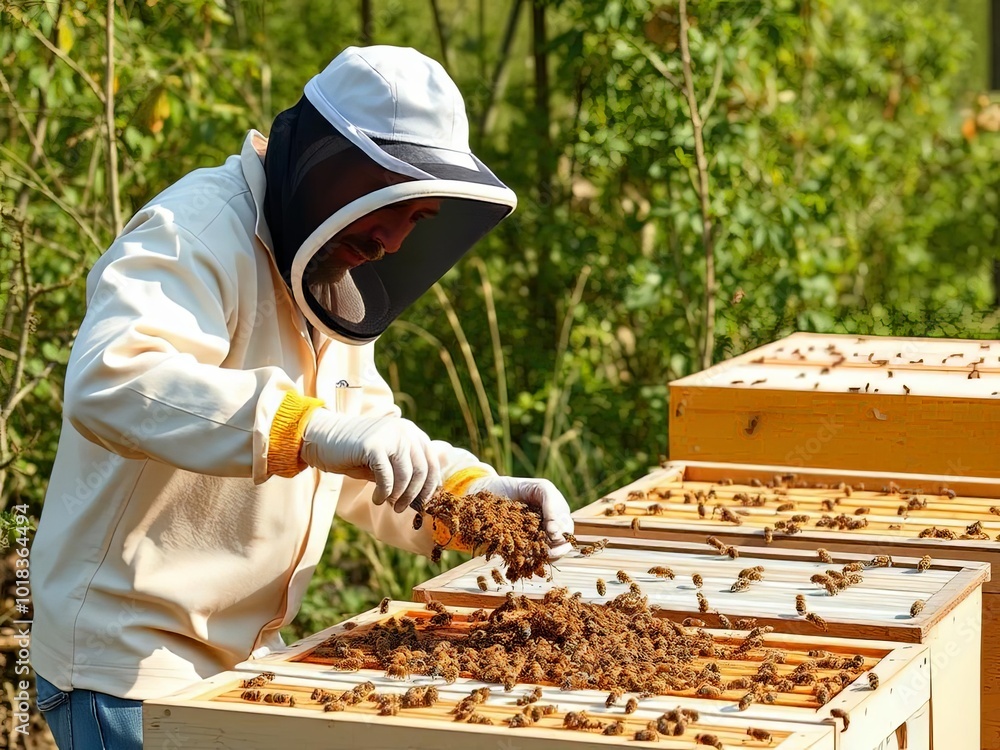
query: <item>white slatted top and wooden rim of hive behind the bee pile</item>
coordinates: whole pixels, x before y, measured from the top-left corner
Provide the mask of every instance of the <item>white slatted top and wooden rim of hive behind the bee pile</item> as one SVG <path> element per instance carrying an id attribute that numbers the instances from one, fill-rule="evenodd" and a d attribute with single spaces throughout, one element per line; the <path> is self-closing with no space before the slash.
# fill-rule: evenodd
<path id="1" fill-rule="evenodd" d="M 598 537 L 581 535 L 577 537 L 581 545 L 593 543 Z M 650 597 L 650 603 L 658 606 L 661 616 L 670 617 L 680 621 L 685 617 L 694 617 L 708 623 L 710 627 L 717 627 L 719 618 L 713 613 L 699 613 L 697 602 L 695 601 L 695 587 L 691 584 L 691 570 L 698 570 L 705 576 L 705 587 L 701 589 L 707 596 L 713 609 L 723 612 L 732 621 L 738 618 L 753 618 L 759 625 L 771 625 L 777 631 L 783 633 L 799 633 L 801 635 L 815 635 L 819 631 L 804 618 L 796 616 L 794 610 L 794 600 L 796 594 L 803 594 L 808 602 L 809 611 L 821 615 L 830 627 L 830 635 L 844 637 L 862 638 L 889 638 L 894 641 L 920 643 L 923 642 L 928 633 L 945 618 L 956 606 L 961 604 L 974 590 L 989 580 L 990 564 L 985 562 L 974 562 L 965 560 L 938 560 L 932 561 L 931 569 L 928 571 L 934 577 L 933 583 L 929 583 L 926 591 L 920 590 L 911 593 L 906 599 L 905 595 L 895 596 L 895 599 L 906 599 L 905 606 L 901 605 L 899 612 L 891 614 L 888 609 L 882 617 L 871 612 L 861 613 L 859 607 L 863 608 L 863 597 L 876 595 L 877 591 L 869 590 L 861 597 L 852 588 L 841 593 L 839 596 L 830 597 L 822 588 L 809 582 L 809 575 L 812 573 L 823 573 L 828 568 L 839 568 L 848 562 L 867 562 L 871 555 L 860 555 L 849 552 L 830 553 L 834 562 L 832 564 L 822 563 L 815 551 L 788 549 L 782 547 L 744 547 L 741 546 L 740 557 L 737 560 L 730 560 L 725 556 L 715 553 L 706 544 L 690 542 L 659 542 L 649 539 L 627 539 L 616 537 L 611 539 L 604 552 L 593 557 L 564 557 L 561 562 L 561 569 L 554 573 L 555 582 L 553 585 L 567 586 L 570 592 L 582 591 L 584 599 L 593 603 L 603 603 L 610 601 L 616 594 L 627 587 L 618 584 L 615 579 L 615 569 L 626 570 L 634 580 L 642 587 L 643 593 Z M 614 558 L 615 552 L 641 553 L 640 557 L 631 555 L 629 563 L 619 560 L 612 564 L 609 560 L 604 563 L 604 559 Z M 573 553 L 570 553 L 571 555 Z M 790 587 L 788 576 L 783 576 L 781 583 L 776 587 L 769 585 L 769 576 L 775 571 L 768 568 L 769 561 L 774 561 L 785 568 L 794 567 L 796 573 L 801 575 L 801 585 Z M 686 563 L 686 564 L 684 564 Z M 742 593 L 719 594 L 718 583 L 723 580 L 720 576 L 728 575 L 724 579 L 726 585 L 731 584 L 736 577 L 736 572 L 741 568 L 763 563 L 765 567 L 764 581 L 754 584 L 749 591 Z M 906 570 L 910 573 L 915 571 L 918 563 L 917 558 L 893 557 L 893 567 L 888 569 L 875 569 L 864 571 L 869 575 L 889 579 L 894 571 L 903 574 Z M 678 564 L 684 564 L 682 568 Z M 641 569 L 642 573 L 646 568 L 656 565 L 673 566 L 677 575 L 675 581 L 655 581 L 650 580 L 649 575 L 636 576 L 636 571 Z M 518 583 L 513 587 L 493 586 L 488 571 L 492 567 L 491 562 L 484 558 L 474 558 L 462 565 L 445 571 L 441 575 L 426 581 L 415 587 L 413 597 L 416 601 L 428 601 L 437 599 L 447 605 L 459 606 L 482 606 L 495 607 L 504 601 L 506 591 L 513 590 L 514 593 L 524 593 L 529 598 L 539 599 L 543 592 L 538 590 L 538 586 L 533 582 Z M 557 568 L 559 566 L 557 565 Z M 725 569 L 725 574 L 720 572 L 720 568 Z M 903 569 L 903 570 L 901 570 Z M 486 571 L 484 573 L 484 571 Z M 565 576 L 561 573 L 565 571 Z M 947 580 L 941 580 L 941 573 L 947 572 Z M 476 577 L 484 575 L 490 585 L 488 593 L 483 593 L 476 587 Z M 779 572 L 779 575 L 780 572 Z M 923 574 L 922 574 L 923 575 Z M 597 577 L 603 577 L 606 581 L 606 596 L 595 596 L 594 582 Z M 711 577 L 710 577 L 711 576 Z M 561 580 L 561 578 L 566 580 Z M 772 576 L 773 577 L 773 576 Z M 586 578 L 586 582 L 582 581 Z M 580 580 L 577 580 L 580 579 Z M 866 579 L 870 584 L 871 580 Z M 926 579 L 930 581 L 930 577 Z M 570 583 L 572 581 L 572 583 Z M 913 578 L 909 583 L 923 584 L 924 578 Z M 865 583 L 859 587 L 866 587 Z M 657 589 L 663 589 L 663 595 L 658 596 Z M 871 586 L 866 588 L 871 589 Z M 923 599 L 925 606 L 923 611 L 915 617 L 906 617 L 907 610 L 917 599 Z M 778 605 L 784 609 L 775 607 Z"/>

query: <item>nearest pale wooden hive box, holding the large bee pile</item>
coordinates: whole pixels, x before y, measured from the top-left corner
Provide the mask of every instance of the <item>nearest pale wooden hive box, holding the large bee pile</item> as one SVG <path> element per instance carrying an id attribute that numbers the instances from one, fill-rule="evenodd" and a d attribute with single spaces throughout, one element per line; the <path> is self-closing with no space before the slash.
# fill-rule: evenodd
<path id="1" fill-rule="evenodd" d="M 472 610 L 458 607 L 449 607 L 448 609 L 455 615 L 454 624 L 450 628 L 438 629 L 438 635 L 444 638 L 454 638 L 459 633 L 468 633 L 470 626 L 466 620 Z M 365 680 L 371 680 L 379 686 L 379 689 L 390 689 L 389 686 L 391 686 L 394 692 L 400 694 L 414 685 L 434 683 L 438 685 L 439 690 L 445 689 L 447 693 L 446 697 L 450 696 L 450 699 L 454 701 L 460 696 L 468 695 L 471 689 L 483 686 L 486 683 L 461 677 L 453 687 L 446 688 L 441 680 L 431 680 L 419 675 L 411 675 L 405 679 L 389 680 L 381 670 L 361 669 L 357 672 L 345 672 L 336 668 L 338 660 L 330 657 L 328 654 L 327 649 L 329 645 L 335 642 L 336 639 L 362 636 L 366 632 L 366 628 L 370 628 L 374 623 L 384 622 L 390 617 L 408 616 L 414 618 L 420 623 L 420 627 L 422 627 L 431 614 L 433 613 L 413 603 L 391 602 L 385 613 L 372 610 L 358 617 L 351 618 L 345 623 L 310 636 L 280 652 L 243 662 L 237 665 L 237 671 L 245 677 L 253 677 L 264 672 L 270 672 L 275 675 L 272 685 L 299 687 L 303 691 L 303 695 L 305 686 L 322 687 L 323 689 L 333 691 L 350 687 L 352 684 L 357 684 Z M 709 632 L 718 642 L 735 642 L 746 635 L 746 633 L 736 631 L 720 630 Z M 598 738 L 591 733 L 583 733 L 581 737 L 580 732 L 570 732 L 562 729 L 562 718 L 566 711 L 586 710 L 591 716 L 603 721 L 614 719 L 628 719 L 632 721 L 638 719 L 642 722 L 639 724 L 641 728 L 645 725 L 646 721 L 655 719 L 665 711 L 682 706 L 696 709 L 700 714 L 700 718 L 695 725 L 688 727 L 684 735 L 684 741 L 676 745 L 676 747 L 695 747 L 694 737 L 700 732 L 714 733 L 720 738 L 725 737 L 724 746 L 727 748 L 754 747 L 755 745 L 749 740 L 746 734 L 748 727 L 764 728 L 768 729 L 768 731 L 771 731 L 773 728 L 775 729 L 774 736 L 781 741 L 804 742 L 806 743 L 805 747 L 810 747 L 808 742 L 811 741 L 814 744 L 817 742 L 820 743 L 819 747 L 824 747 L 822 737 L 810 735 L 810 732 L 806 730 L 800 731 L 800 727 L 815 727 L 816 725 L 827 725 L 831 722 L 839 723 L 840 720 L 832 719 L 830 714 L 832 709 L 839 708 L 848 712 L 850 716 L 850 728 L 846 732 L 835 733 L 833 747 L 844 750 L 850 748 L 871 750 L 871 748 L 878 747 L 888 749 L 892 747 L 926 748 L 930 746 L 928 710 L 930 663 L 926 646 L 922 644 L 898 644 L 863 639 L 846 640 L 832 638 L 824 634 L 797 636 L 772 633 L 765 637 L 765 647 L 784 650 L 785 663 L 778 667 L 779 670 L 783 671 L 790 672 L 795 669 L 797 664 L 809 659 L 808 652 L 815 649 L 827 650 L 835 655 L 845 657 L 861 655 L 865 660 L 864 671 L 860 673 L 857 680 L 846 685 L 839 693 L 835 694 L 826 705 L 821 706 L 816 702 L 812 697 L 810 688 L 797 688 L 792 693 L 778 694 L 778 699 L 773 704 L 753 703 L 745 711 L 739 711 L 736 707 L 736 702 L 743 692 L 739 690 L 726 691 L 717 698 L 697 697 L 694 690 L 680 691 L 664 696 L 645 697 L 639 701 L 638 710 L 626 716 L 623 704 L 629 694 L 623 696 L 617 706 L 608 709 L 605 706 L 606 691 L 560 690 L 554 686 L 543 686 L 543 698 L 539 703 L 555 704 L 558 712 L 555 714 L 556 718 L 550 722 L 545 724 L 540 722 L 539 724 L 542 728 L 536 725 L 533 729 L 534 731 L 543 733 L 537 739 L 547 739 L 550 742 L 553 740 L 583 741 L 594 743 L 595 746 L 597 743 L 603 744 L 607 742 L 627 742 L 631 744 L 632 740 L 629 737 L 615 739 L 602 736 Z M 747 676 L 751 674 L 759 667 L 759 660 L 755 662 L 754 657 L 747 656 L 743 659 L 732 658 L 727 661 L 720 661 L 718 664 L 723 679 L 728 680 L 735 676 Z M 876 672 L 880 677 L 880 685 L 877 690 L 871 690 L 868 687 L 868 670 Z M 824 671 L 821 670 L 817 674 L 822 676 Z M 221 708 L 221 706 L 205 706 L 204 703 L 206 700 L 210 702 L 214 700 L 217 704 L 227 703 L 238 706 L 240 710 L 240 726 L 243 726 L 243 714 L 247 712 L 264 712 L 266 715 L 271 716 L 275 713 L 285 714 L 291 711 L 293 712 L 291 715 L 296 716 L 299 714 L 294 712 L 302 711 L 303 715 L 316 716 L 320 710 L 314 706 L 310 707 L 309 701 L 297 700 L 296 707 L 288 709 L 239 700 L 240 691 L 238 690 L 238 682 L 235 680 L 236 678 L 232 678 L 223 683 L 215 683 L 211 687 L 206 686 L 206 689 L 201 691 L 198 689 L 185 691 L 183 694 L 174 696 L 167 702 L 147 702 L 145 714 L 147 731 L 165 734 L 169 731 L 171 722 L 181 722 L 185 725 L 193 722 L 200 727 L 199 731 L 209 733 L 214 729 L 216 731 L 216 735 L 214 736 L 218 736 L 221 724 L 224 723 L 226 727 L 230 727 L 237 723 L 230 719 L 212 718 L 205 714 L 202 714 L 197 719 L 191 718 L 189 714 L 178 718 L 174 711 L 175 707 L 181 706 L 191 709 L 201 709 L 203 711 L 218 710 L 218 708 Z M 492 685 L 493 694 L 489 703 L 491 706 L 495 705 L 497 707 L 497 718 L 509 716 L 511 710 L 517 710 L 517 699 L 525 695 L 532 687 L 533 685 L 530 683 L 522 683 L 515 686 L 510 692 L 504 692 L 502 687 Z M 271 689 L 277 688 L 272 687 Z M 287 692 L 287 689 L 282 689 Z M 300 693 L 296 692 L 296 695 L 299 696 Z M 189 703 L 197 705 L 188 706 L 187 704 Z M 230 706 L 227 705 L 225 708 L 229 710 Z M 166 718 L 170 718 L 171 722 L 165 722 L 164 718 L 164 711 L 168 709 L 171 711 L 172 718 Z M 421 710 L 413 709 L 417 713 L 411 713 L 410 716 L 419 718 L 423 715 L 420 713 Z M 334 714 L 332 717 L 327 715 L 324 718 L 327 718 L 328 721 L 336 722 L 338 718 L 343 716 L 344 712 L 341 712 Z M 402 717 L 402 714 L 400 716 Z M 378 717 L 380 721 L 383 718 L 385 717 Z M 466 725 L 456 724 L 454 721 L 451 721 L 453 717 L 447 711 L 441 712 L 441 715 L 434 718 L 438 722 L 443 721 L 443 725 L 437 725 L 440 727 L 440 730 L 434 730 L 432 727 L 425 725 L 421 725 L 418 728 L 421 730 L 443 731 L 459 735 L 467 731 Z M 368 718 L 367 721 L 369 725 L 376 723 L 374 718 Z M 782 722 L 785 723 L 782 724 Z M 154 724 L 156 726 L 153 726 Z M 631 725 L 629 726 L 631 728 Z M 787 736 L 782 736 L 781 726 L 784 726 L 788 730 Z M 288 729 L 291 731 L 290 726 Z M 485 729 L 491 728 L 486 727 Z M 508 728 L 501 726 L 499 730 L 508 731 Z M 226 731 L 229 730 L 226 729 Z M 305 733 L 305 730 L 302 730 L 302 732 L 297 731 L 296 737 L 308 737 L 311 739 L 314 736 L 311 734 L 311 731 L 309 733 Z M 476 731 L 478 732 L 480 729 L 477 728 Z M 503 736 L 511 738 L 510 741 L 512 742 L 521 744 L 521 731 L 518 729 L 515 735 Z M 798 736 L 802 734 L 810 736 Z M 409 746 L 422 747 L 421 742 L 425 741 L 417 737 L 411 738 L 409 735 L 402 736 L 407 738 L 405 742 Z M 530 733 L 523 736 L 526 739 L 529 737 L 535 739 L 535 736 Z M 250 734 L 248 733 L 248 740 L 249 737 Z M 433 738 L 433 735 L 429 735 L 429 737 Z M 463 740 L 436 738 L 426 741 L 431 743 L 428 746 L 448 747 L 451 746 L 451 743 Z M 468 736 L 465 737 L 464 741 L 468 742 Z M 664 741 L 665 738 L 661 739 L 660 746 L 663 746 Z M 444 744 L 433 744 L 434 742 L 443 742 Z M 363 743 L 364 745 L 391 746 L 388 743 L 382 742 L 374 744 L 365 742 Z M 156 745 L 150 746 L 155 747 Z M 340 745 L 332 744 L 330 746 L 339 747 Z M 671 747 L 672 745 L 666 746 Z M 773 747 L 774 745 L 761 743 L 761 746 Z M 789 746 L 795 747 L 796 745 L 792 744 Z M 253 745 L 249 745 L 249 747 L 253 747 Z"/>

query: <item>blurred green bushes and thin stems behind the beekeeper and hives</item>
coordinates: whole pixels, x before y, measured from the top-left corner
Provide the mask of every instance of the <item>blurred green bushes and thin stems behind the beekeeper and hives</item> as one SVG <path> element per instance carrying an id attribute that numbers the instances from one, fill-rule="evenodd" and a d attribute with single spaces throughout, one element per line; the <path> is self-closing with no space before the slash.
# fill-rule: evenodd
<path id="1" fill-rule="evenodd" d="M 988 8 L 0 0 L 0 508 L 40 511 L 118 228 L 351 44 L 442 62 L 521 201 L 383 337 L 383 372 L 433 436 L 574 506 L 663 457 L 667 383 L 713 361 L 793 330 L 996 337 Z M 288 635 L 455 562 L 339 525 Z"/>

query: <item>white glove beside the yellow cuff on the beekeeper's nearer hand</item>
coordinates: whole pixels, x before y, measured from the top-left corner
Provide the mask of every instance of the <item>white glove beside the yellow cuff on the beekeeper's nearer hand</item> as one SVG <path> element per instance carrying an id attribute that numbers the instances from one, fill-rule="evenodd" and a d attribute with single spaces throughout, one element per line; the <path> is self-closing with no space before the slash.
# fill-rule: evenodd
<path id="1" fill-rule="evenodd" d="M 372 502 L 403 512 L 441 486 L 431 439 L 401 417 L 354 417 L 317 409 L 302 435 L 302 460 L 322 471 L 375 482 Z"/>

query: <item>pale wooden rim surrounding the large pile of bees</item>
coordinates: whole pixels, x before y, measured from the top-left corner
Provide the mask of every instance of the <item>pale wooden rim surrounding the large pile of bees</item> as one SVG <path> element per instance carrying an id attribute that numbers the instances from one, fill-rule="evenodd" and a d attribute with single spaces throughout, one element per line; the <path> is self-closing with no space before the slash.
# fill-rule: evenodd
<path id="1" fill-rule="evenodd" d="M 467 617 L 472 612 L 470 608 L 464 607 L 448 607 L 448 610 L 455 614 L 456 619 Z M 316 684 L 320 685 L 326 682 L 343 681 L 347 678 L 361 681 L 378 677 L 384 680 L 384 673 L 381 670 L 362 669 L 357 673 L 338 671 L 333 668 L 335 660 L 323 657 L 314 658 L 313 652 L 330 639 L 352 632 L 358 635 L 363 632 L 363 628 L 373 623 L 385 621 L 390 617 L 400 615 L 421 617 L 426 614 L 422 607 L 413 603 L 391 602 L 385 613 L 380 613 L 378 610 L 363 613 L 305 638 L 287 649 L 259 659 L 242 662 L 237 665 L 236 669 L 251 675 L 269 671 L 277 675 L 280 680 L 302 679 L 310 682 L 315 681 Z M 741 639 L 745 635 L 736 631 L 710 632 L 717 638 L 734 640 Z M 801 699 L 791 701 L 779 700 L 774 705 L 754 703 L 746 711 L 739 712 L 734 705 L 735 701 L 738 700 L 736 693 L 724 694 L 723 698 L 720 699 L 671 694 L 644 699 L 639 705 L 644 711 L 654 712 L 656 715 L 678 705 L 688 706 L 697 709 L 703 719 L 707 718 L 710 721 L 716 717 L 740 716 L 747 722 L 743 725 L 744 727 L 757 726 L 759 722 L 770 721 L 797 724 L 829 723 L 832 720 L 830 710 L 840 708 L 849 713 L 851 727 L 848 732 L 838 733 L 835 740 L 837 748 L 871 750 L 872 747 L 882 743 L 885 738 L 895 737 L 897 732 L 908 734 L 909 744 L 907 747 L 911 750 L 930 747 L 928 710 L 930 657 L 926 646 L 864 639 L 847 640 L 830 638 L 825 635 L 798 636 L 778 633 L 766 636 L 765 645 L 786 649 L 788 652 L 801 652 L 802 658 L 805 658 L 804 654 L 811 649 L 826 649 L 844 655 L 864 654 L 866 660 L 871 660 L 870 663 L 874 665 L 872 668 L 879 675 L 880 687 L 874 691 L 870 690 L 867 686 L 867 680 L 862 674 L 860 680 L 834 695 L 825 706 L 817 706 L 815 700 L 802 696 Z M 793 664 L 795 658 L 797 657 L 790 656 L 789 665 Z M 724 675 L 726 669 L 727 666 L 723 665 Z M 354 676 L 350 677 L 352 674 Z M 414 680 L 418 683 L 423 681 L 423 684 L 427 682 L 427 678 L 411 677 L 396 681 L 395 684 L 400 685 L 400 692 L 402 692 L 406 687 L 412 686 Z M 465 678 L 461 678 L 460 682 L 469 689 L 486 684 Z M 502 688 L 498 688 L 496 685 L 492 687 L 503 695 Z M 510 701 L 523 692 L 522 687 L 523 684 L 507 694 Z M 531 687 L 531 685 L 527 685 L 527 687 Z M 578 707 L 590 706 L 595 711 L 603 709 L 604 699 L 607 696 L 606 691 L 593 690 L 554 690 L 554 693 L 559 696 L 555 702 L 560 706 L 564 704 Z M 859 721 L 860 723 L 857 723 Z M 859 731 L 857 734 L 852 734 L 855 729 Z M 561 737 L 562 735 L 560 735 Z M 689 742 L 688 746 L 693 747 L 694 745 Z"/>

